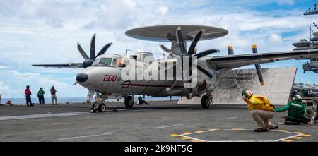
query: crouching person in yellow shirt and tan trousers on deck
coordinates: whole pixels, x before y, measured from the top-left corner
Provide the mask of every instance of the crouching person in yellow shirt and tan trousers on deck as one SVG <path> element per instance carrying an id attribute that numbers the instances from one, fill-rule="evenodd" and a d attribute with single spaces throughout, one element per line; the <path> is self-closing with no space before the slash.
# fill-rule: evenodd
<path id="1" fill-rule="evenodd" d="M 273 105 L 266 97 L 253 95 L 251 90 L 243 90 L 242 98 L 247 103 L 253 119 L 260 126 L 260 128 L 254 130 L 255 132 L 266 132 L 269 129 L 278 128 L 278 126 L 271 124 L 271 121 L 269 121 L 269 119 L 273 119 L 275 113 Z"/>

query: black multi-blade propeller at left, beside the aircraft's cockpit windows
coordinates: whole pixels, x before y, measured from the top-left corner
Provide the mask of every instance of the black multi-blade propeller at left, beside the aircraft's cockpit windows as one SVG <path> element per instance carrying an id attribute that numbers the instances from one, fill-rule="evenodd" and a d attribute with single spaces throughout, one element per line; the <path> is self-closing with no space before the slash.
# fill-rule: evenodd
<path id="1" fill-rule="evenodd" d="M 96 57 L 105 54 L 108 48 L 112 45 L 112 43 L 106 44 L 102 49 L 100 49 L 100 52 L 98 52 L 97 55 L 95 55 L 95 38 L 96 34 L 93 35 L 92 40 L 90 40 L 90 56 L 86 54 L 86 52 L 81 47 L 81 44 L 79 42 L 77 43 L 78 52 L 80 52 L 81 56 L 84 58 L 83 67 L 87 68 L 88 66 L 92 66 L 93 62 L 95 61 Z"/>

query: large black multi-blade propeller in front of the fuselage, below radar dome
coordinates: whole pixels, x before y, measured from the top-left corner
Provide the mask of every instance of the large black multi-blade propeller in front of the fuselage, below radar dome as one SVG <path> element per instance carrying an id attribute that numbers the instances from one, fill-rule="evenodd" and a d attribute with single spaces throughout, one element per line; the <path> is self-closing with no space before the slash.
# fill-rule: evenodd
<path id="1" fill-rule="evenodd" d="M 181 29 L 181 27 L 178 27 L 177 30 L 176 30 L 177 43 L 179 45 L 180 52 L 182 53 L 182 56 L 180 56 L 180 59 L 182 61 L 182 73 L 184 72 L 184 68 L 183 68 L 184 60 L 183 60 L 183 57 L 187 56 L 188 60 L 189 60 L 189 67 L 188 67 L 189 76 L 192 76 L 192 61 L 194 61 L 195 59 L 200 59 L 200 58 L 202 58 L 204 56 L 207 56 L 209 54 L 220 52 L 217 49 L 209 49 L 209 50 L 206 50 L 204 52 L 200 52 L 199 54 L 196 54 L 196 44 L 199 42 L 200 37 L 201 37 L 201 35 L 203 33 L 204 32 L 202 30 L 199 30 L 198 32 L 196 32 L 196 35 L 194 35 L 194 37 L 192 38 L 192 43 L 191 43 L 191 45 L 190 45 L 190 47 L 189 47 L 189 49 L 187 51 L 187 49 L 186 49 L 186 47 L 184 45 L 184 39 L 182 38 L 182 29 Z M 160 44 L 160 47 L 161 47 L 161 49 L 163 49 L 163 51 L 169 53 L 171 56 L 176 56 L 175 54 L 173 54 L 173 52 L 170 49 L 165 47 L 163 44 Z M 179 57 L 179 56 L 176 56 L 176 57 Z M 199 65 L 196 68 L 199 71 L 201 71 L 202 73 L 204 73 L 206 76 L 208 76 L 208 78 L 213 78 L 213 75 L 210 72 L 208 72 L 205 68 L 203 68 L 203 67 L 201 67 Z M 190 80 L 190 82 L 191 82 L 191 80 Z M 169 88 L 169 89 L 171 89 L 171 88 Z M 190 88 L 189 91 L 190 91 L 189 97 L 192 97 L 193 89 Z"/>

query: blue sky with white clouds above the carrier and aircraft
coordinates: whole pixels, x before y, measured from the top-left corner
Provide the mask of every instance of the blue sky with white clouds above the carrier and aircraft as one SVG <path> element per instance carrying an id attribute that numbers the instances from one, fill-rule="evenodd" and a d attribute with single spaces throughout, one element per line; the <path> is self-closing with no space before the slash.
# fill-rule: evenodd
<path id="1" fill-rule="evenodd" d="M 96 33 L 96 51 L 124 54 L 153 52 L 160 58 L 159 42 L 136 40 L 124 32 L 156 24 L 211 25 L 229 34 L 199 42 L 197 49 L 220 49 L 214 56 L 290 51 L 293 42 L 309 38 L 309 27 L 318 16 L 302 16 L 317 1 L 307 0 L 11 0 L 0 1 L 0 92 L 2 97 L 24 97 L 25 85 L 36 92 L 51 85 L 59 97 L 86 97 L 87 90 L 73 86 L 81 69 L 35 68 L 31 64 L 83 62 L 76 43 L 88 52 Z M 167 47 L 170 43 L 164 42 Z M 302 73 L 306 61 L 263 64 L 264 68 L 298 67 L 297 82 L 318 83 L 318 74 Z M 252 68 L 252 66 L 251 66 Z M 35 94 L 35 93 L 34 93 Z M 33 95 L 35 96 L 35 95 Z M 46 95 L 49 97 L 49 94 Z"/>

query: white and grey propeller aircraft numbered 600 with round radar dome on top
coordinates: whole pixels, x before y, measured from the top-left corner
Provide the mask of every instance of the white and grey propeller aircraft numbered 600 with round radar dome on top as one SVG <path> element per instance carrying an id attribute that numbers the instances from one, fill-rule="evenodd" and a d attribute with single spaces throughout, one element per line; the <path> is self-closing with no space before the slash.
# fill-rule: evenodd
<path id="1" fill-rule="evenodd" d="M 201 105 L 208 109 L 213 102 L 216 75 L 242 66 L 255 65 L 260 85 L 264 85 L 260 64 L 288 59 L 310 59 L 318 56 L 318 49 L 290 52 L 234 55 L 228 47 L 228 56 L 207 56 L 219 52 L 209 49 L 196 53 L 200 40 L 223 37 L 228 30 L 203 25 L 152 25 L 126 31 L 126 35 L 139 40 L 171 42 L 171 48 L 160 44 L 169 54 L 167 59 L 154 59 L 150 52 L 139 52 L 129 56 L 105 54 L 112 43 L 106 44 L 95 56 L 95 35 L 90 44 L 90 56 L 78 44 L 85 59 L 83 63 L 36 64 L 33 66 L 57 68 L 84 68 L 77 74 L 76 83 L 89 90 L 88 101 L 95 93 L 91 112 L 105 112 L 105 100 L 124 97 L 127 108 L 134 106 L 134 95 L 152 97 L 180 96 L 191 99 L 201 97 Z M 192 43 L 186 49 L 187 42 Z"/>

